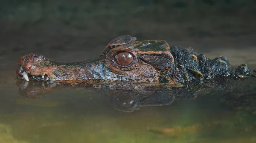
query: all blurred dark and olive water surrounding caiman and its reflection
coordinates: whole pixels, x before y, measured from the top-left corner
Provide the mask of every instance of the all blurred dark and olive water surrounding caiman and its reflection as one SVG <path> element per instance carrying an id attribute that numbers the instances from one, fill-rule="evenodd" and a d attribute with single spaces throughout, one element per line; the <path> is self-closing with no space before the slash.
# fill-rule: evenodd
<path id="1" fill-rule="evenodd" d="M 256 69 L 255 3 L 202 1 L 207 3 L 1 2 L 0 143 L 255 143 L 256 112 L 250 110 L 255 106 L 230 109 L 218 92 L 132 113 L 81 89 L 47 93 L 37 100 L 18 93 L 13 77 L 20 56 L 88 60 L 122 34 L 164 39 L 211 59 L 224 55 L 231 64 Z"/>

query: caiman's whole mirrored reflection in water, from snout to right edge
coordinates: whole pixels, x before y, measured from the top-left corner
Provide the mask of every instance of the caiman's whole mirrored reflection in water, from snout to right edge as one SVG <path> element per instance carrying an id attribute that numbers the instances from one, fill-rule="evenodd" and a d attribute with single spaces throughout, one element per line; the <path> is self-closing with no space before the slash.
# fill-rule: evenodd
<path id="1" fill-rule="evenodd" d="M 250 82 L 247 82 L 250 81 Z M 134 112 L 139 107 L 144 106 L 163 106 L 172 104 L 176 99 L 196 98 L 199 94 L 220 94 L 221 102 L 233 109 L 247 109 L 255 114 L 256 105 L 254 104 L 256 91 L 253 79 L 244 81 L 222 82 L 219 84 L 208 83 L 200 85 L 186 85 L 185 87 L 171 87 L 163 84 L 132 84 L 132 83 L 113 83 L 113 84 L 91 84 L 85 87 L 72 87 L 52 82 L 40 83 L 33 81 L 17 80 L 19 93 L 26 98 L 44 98 L 46 93 L 70 89 L 84 89 L 97 92 L 110 102 L 117 110 L 123 112 Z"/>

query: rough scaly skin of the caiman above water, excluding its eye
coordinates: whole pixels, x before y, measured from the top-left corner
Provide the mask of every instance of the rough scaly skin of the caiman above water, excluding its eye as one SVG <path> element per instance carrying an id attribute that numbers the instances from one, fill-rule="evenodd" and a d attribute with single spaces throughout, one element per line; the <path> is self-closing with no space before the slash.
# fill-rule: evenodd
<path id="1" fill-rule="evenodd" d="M 131 64 L 121 66 L 117 62 L 116 55 L 122 52 L 130 53 Z M 192 48 L 170 48 L 163 40 L 136 41 L 129 35 L 113 39 L 94 61 L 55 62 L 31 53 L 21 57 L 18 65 L 20 79 L 80 86 L 130 82 L 180 87 L 188 83 L 241 79 L 253 73 L 246 64 L 232 67 L 224 56 L 211 60 L 203 54 L 197 55 Z"/>

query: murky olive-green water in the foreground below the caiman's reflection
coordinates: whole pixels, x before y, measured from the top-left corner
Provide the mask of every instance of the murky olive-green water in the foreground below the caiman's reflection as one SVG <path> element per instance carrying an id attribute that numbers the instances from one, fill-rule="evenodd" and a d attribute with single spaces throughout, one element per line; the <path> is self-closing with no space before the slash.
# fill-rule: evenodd
<path id="1" fill-rule="evenodd" d="M 23 98 L 13 79 L 15 68 L 2 69 L 1 75 L 0 143 L 256 142 L 254 104 L 248 109 L 230 108 L 220 102 L 225 95 L 221 92 L 127 113 L 114 109 L 105 96 L 82 89 Z M 235 83 L 254 85 L 255 81 Z M 252 86 L 250 95 L 253 90 L 256 93 Z M 255 103 L 252 97 L 244 98 Z"/>

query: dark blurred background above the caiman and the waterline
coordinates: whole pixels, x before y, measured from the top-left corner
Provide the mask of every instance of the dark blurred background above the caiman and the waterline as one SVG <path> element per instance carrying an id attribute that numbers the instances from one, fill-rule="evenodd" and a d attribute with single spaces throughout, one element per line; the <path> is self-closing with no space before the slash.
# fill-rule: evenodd
<path id="1" fill-rule="evenodd" d="M 256 0 L 0 1 L 1 66 L 16 66 L 28 53 L 91 59 L 123 34 L 254 64 Z"/>

